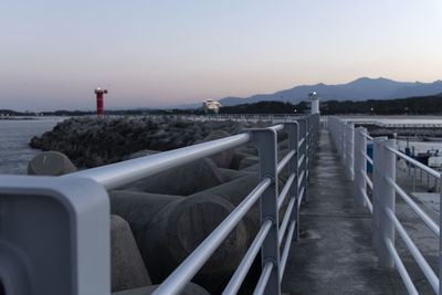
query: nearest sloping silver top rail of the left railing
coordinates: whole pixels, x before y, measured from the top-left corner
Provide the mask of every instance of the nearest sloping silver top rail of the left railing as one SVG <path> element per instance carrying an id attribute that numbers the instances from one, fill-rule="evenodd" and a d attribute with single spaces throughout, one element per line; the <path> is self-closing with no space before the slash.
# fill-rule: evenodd
<path id="1" fill-rule="evenodd" d="M 240 146 L 250 141 L 250 139 L 251 135 L 244 133 L 190 147 L 92 168 L 62 177 L 85 177 L 97 181 L 106 189 L 115 189 L 164 170 Z"/>

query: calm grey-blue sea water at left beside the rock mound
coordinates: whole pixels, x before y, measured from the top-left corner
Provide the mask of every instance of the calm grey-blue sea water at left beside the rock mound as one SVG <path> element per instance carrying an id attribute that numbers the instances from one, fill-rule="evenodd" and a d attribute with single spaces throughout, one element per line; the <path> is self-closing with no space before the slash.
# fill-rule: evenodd
<path id="1" fill-rule="evenodd" d="M 41 152 L 29 147 L 31 138 L 51 130 L 63 119 L 0 119 L 0 175 L 25 175 L 28 162 Z"/>

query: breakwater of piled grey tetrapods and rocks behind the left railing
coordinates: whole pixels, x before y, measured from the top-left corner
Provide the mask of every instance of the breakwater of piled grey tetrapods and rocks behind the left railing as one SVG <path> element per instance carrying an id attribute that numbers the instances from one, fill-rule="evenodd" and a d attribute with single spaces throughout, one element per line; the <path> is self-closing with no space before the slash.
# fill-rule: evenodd
<path id="1" fill-rule="evenodd" d="M 64 147 L 66 149 L 61 151 L 77 156 L 72 158 L 77 165 L 78 159 L 82 164 L 88 160 L 96 164 L 88 158 L 93 155 L 104 164 L 213 140 L 236 134 L 244 127 L 256 126 L 230 122 L 151 122 L 147 118 L 71 119 L 33 143 L 43 144 L 48 149 Z M 155 136 L 158 134 L 167 136 Z M 120 144 L 112 145 L 115 140 Z M 80 154 L 82 144 L 86 147 Z M 286 140 L 281 141 L 280 159 L 286 154 Z M 102 148 L 106 154 L 98 154 Z M 65 162 L 65 158 L 61 157 L 60 161 Z M 109 191 L 113 292 L 150 294 L 257 185 L 257 151 L 241 146 Z M 285 170 L 280 179 L 286 178 Z M 281 183 L 280 190 L 282 187 Z M 220 294 L 259 228 L 256 203 L 194 276 L 185 294 Z M 251 286 L 256 283 L 259 272 L 257 257 L 242 293 L 253 291 Z"/>

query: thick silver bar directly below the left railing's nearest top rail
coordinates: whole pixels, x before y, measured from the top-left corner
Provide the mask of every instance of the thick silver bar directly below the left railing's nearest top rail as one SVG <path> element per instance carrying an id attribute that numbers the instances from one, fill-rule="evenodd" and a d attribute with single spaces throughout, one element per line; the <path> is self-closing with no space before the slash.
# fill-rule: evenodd
<path id="1" fill-rule="evenodd" d="M 264 178 L 256 188 L 206 238 L 204 241 L 162 282 L 154 292 L 155 295 L 178 294 L 194 276 L 210 255 L 224 241 L 229 233 L 236 226 L 241 219 L 249 212 L 261 194 L 272 183 L 270 178 Z"/>

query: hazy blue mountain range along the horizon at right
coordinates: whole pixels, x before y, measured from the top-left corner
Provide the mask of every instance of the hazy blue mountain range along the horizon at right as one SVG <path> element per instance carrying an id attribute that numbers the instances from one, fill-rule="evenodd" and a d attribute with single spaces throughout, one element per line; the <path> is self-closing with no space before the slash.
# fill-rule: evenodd
<path id="1" fill-rule="evenodd" d="M 367 99 L 393 99 L 411 96 L 425 96 L 442 93 L 442 81 L 433 83 L 397 82 L 383 77 L 360 77 L 347 84 L 302 85 L 291 89 L 275 92 L 273 94 L 256 94 L 250 97 L 224 97 L 219 99 L 223 106 L 239 104 L 252 104 L 262 101 L 290 102 L 297 104 L 307 101 L 308 93 L 317 92 L 323 101 L 367 101 Z M 181 105 L 179 108 L 199 107 L 201 104 Z"/>

